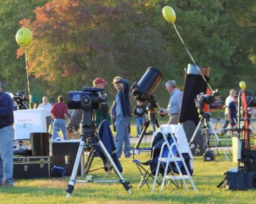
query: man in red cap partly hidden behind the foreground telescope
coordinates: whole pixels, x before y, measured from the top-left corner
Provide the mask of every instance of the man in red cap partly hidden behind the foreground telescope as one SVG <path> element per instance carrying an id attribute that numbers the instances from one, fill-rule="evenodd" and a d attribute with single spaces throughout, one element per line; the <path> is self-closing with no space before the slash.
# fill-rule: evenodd
<path id="1" fill-rule="evenodd" d="M 94 87 L 104 89 L 106 85 L 108 85 L 108 83 L 105 82 L 105 80 L 102 78 L 96 78 L 94 80 Z M 97 127 L 99 127 L 100 122 L 102 122 L 102 120 L 104 120 L 104 119 L 107 119 L 108 124 L 110 124 L 111 118 L 110 118 L 110 114 L 108 113 L 108 111 L 109 111 L 108 102 L 102 103 L 102 106 L 100 107 L 100 109 L 95 110 L 95 112 L 96 112 L 96 122 L 95 123 L 96 123 Z"/>

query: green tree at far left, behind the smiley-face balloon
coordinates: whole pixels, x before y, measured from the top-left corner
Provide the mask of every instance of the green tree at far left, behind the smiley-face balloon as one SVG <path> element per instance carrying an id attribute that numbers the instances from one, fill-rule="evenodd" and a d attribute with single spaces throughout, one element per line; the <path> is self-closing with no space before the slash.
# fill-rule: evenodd
<path id="1" fill-rule="evenodd" d="M 25 17 L 34 20 L 33 9 L 42 6 L 46 0 L 0 0 L 0 71 L 1 80 L 11 82 L 11 87 L 23 89 L 26 82 L 25 58 L 17 59 L 19 45 L 15 34 L 20 29 L 20 20 Z"/>

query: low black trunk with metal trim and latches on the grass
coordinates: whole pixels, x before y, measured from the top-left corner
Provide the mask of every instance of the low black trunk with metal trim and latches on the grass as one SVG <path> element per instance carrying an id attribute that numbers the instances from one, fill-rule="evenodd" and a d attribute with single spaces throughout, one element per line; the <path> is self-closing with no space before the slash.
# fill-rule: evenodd
<path id="1" fill-rule="evenodd" d="M 53 157 L 14 157 L 12 177 L 49 178 L 53 160 Z"/>

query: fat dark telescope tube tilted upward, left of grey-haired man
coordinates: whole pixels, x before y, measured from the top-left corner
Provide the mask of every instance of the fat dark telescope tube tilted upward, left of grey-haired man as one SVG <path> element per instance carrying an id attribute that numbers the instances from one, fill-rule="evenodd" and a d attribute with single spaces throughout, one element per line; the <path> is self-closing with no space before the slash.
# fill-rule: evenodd
<path id="1" fill-rule="evenodd" d="M 163 78 L 164 76 L 158 68 L 149 67 L 138 85 L 135 85 L 134 90 L 132 90 L 133 98 L 141 102 L 148 101 Z"/>

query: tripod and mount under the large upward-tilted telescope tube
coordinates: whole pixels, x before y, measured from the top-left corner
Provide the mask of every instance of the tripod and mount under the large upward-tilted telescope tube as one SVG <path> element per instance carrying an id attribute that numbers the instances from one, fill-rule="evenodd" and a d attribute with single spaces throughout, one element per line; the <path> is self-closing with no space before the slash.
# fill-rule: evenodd
<path id="1" fill-rule="evenodd" d="M 156 111 L 157 108 L 161 109 L 159 107 L 157 101 L 154 99 L 154 96 L 152 96 L 152 98 L 148 101 L 148 106 L 146 107 L 146 109 L 148 110 L 147 120 L 143 124 L 143 128 L 140 133 L 140 138 L 138 139 L 135 149 L 139 148 L 140 143 L 141 143 L 143 137 L 146 135 L 146 130 L 151 122 L 152 122 L 154 132 L 156 131 L 156 125 L 157 125 L 157 128 L 159 127 L 159 123 L 157 120 L 157 111 Z"/>

